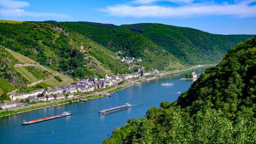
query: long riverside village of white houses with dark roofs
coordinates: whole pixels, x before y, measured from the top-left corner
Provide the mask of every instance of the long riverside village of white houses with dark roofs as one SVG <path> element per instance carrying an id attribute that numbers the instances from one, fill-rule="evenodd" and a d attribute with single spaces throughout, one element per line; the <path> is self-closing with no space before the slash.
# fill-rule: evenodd
<path id="1" fill-rule="evenodd" d="M 50 102 L 63 99 L 72 99 L 79 97 L 79 95 L 86 95 L 88 92 L 97 92 L 99 89 L 106 89 L 109 86 L 120 84 L 128 79 L 143 78 L 149 75 L 160 73 L 157 69 L 153 71 L 143 72 L 142 67 L 135 69 L 132 74 L 123 75 L 106 75 L 105 78 L 78 79 L 77 82 L 68 84 L 66 86 L 55 87 L 54 89 L 39 89 L 29 93 L 13 93 L 10 95 L 12 101 L 0 103 L 1 109 L 8 109 L 13 107 L 27 106 L 28 103 L 34 102 Z M 23 102 L 23 103 L 21 103 Z"/>

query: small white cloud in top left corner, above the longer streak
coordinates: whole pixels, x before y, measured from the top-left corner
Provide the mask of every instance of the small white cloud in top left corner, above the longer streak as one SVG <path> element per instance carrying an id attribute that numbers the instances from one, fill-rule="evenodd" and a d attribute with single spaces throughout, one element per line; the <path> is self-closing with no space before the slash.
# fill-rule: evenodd
<path id="1" fill-rule="evenodd" d="M 15 8 L 27 7 L 29 6 L 29 3 L 23 2 L 23 1 L 1 0 L 0 6 L 3 6 L 5 8 L 10 8 L 10 9 L 15 9 Z"/>

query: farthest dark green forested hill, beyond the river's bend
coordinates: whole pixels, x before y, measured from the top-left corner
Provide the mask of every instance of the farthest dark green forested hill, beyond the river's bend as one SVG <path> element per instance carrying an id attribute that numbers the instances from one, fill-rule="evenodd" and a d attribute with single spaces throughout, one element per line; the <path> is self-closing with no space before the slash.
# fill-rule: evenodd
<path id="1" fill-rule="evenodd" d="M 215 35 L 193 28 L 159 23 L 138 23 L 122 25 L 122 27 L 147 37 L 189 64 L 220 61 L 230 47 L 253 37 L 253 35 Z"/>

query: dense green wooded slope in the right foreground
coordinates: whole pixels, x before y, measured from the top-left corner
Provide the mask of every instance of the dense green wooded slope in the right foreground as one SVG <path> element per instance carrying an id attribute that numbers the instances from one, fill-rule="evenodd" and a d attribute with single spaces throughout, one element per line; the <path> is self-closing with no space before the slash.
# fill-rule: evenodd
<path id="1" fill-rule="evenodd" d="M 103 143 L 255 143 L 256 37 L 230 49 L 178 101 L 130 119 Z"/>

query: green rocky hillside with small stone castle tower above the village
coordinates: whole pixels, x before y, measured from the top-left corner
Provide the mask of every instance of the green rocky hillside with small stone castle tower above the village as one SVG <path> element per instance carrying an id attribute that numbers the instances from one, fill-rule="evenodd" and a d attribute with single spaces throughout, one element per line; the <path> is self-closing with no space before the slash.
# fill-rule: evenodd
<path id="1" fill-rule="evenodd" d="M 0 45 L 73 78 L 129 72 L 115 53 L 58 23 L 0 23 Z"/>

